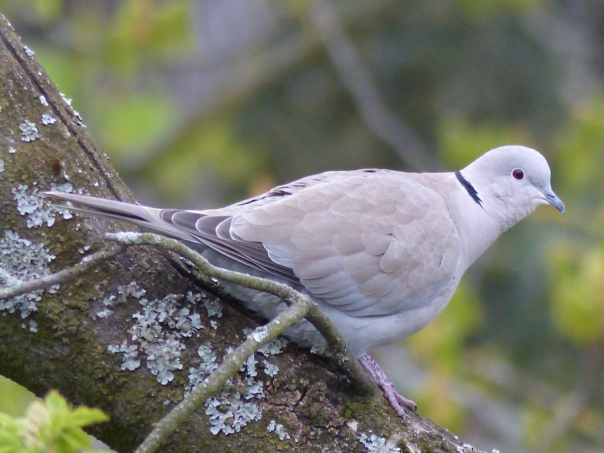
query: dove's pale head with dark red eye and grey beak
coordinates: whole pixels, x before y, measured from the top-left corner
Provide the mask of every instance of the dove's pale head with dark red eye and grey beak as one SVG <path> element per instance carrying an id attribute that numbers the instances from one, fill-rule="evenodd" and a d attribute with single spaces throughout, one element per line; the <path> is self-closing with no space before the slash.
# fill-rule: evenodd
<path id="1" fill-rule="evenodd" d="M 513 223 L 550 204 L 564 214 L 564 203 L 551 190 L 544 156 L 524 146 L 502 146 L 484 153 L 461 170 L 487 211 L 506 213 Z"/>

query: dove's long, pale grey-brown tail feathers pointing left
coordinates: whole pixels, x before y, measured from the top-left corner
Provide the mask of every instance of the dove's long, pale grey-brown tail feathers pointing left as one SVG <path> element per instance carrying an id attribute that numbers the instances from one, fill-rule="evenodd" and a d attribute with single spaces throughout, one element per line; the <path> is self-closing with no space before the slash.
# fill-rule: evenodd
<path id="1" fill-rule="evenodd" d="M 124 203 L 115 200 L 106 200 L 88 195 L 77 195 L 65 192 L 42 192 L 42 196 L 51 199 L 71 202 L 74 205 L 60 204 L 57 207 L 66 208 L 76 213 L 89 216 L 108 217 L 123 222 L 135 223 L 146 230 L 177 239 L 193 240 L 198 242 L 181 228 L 176 227 L 170 219 L 175 210 L 149 208 L 146 206 Z"/>

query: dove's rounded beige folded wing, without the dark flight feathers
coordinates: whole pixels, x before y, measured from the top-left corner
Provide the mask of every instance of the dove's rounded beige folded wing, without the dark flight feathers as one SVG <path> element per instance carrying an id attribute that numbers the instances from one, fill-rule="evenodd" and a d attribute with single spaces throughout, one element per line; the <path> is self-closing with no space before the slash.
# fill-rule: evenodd
<path id="1" fill-rule="evenodd" d="M 228 231 L 262 243 L 307 291 L 349 315 L 412 309 L 446 288 L 460 257 L 443 197 L 413 176 L 350 173 L 243 211 Z"/>

